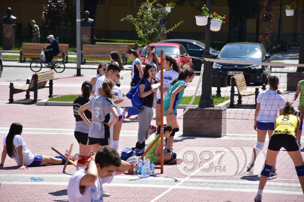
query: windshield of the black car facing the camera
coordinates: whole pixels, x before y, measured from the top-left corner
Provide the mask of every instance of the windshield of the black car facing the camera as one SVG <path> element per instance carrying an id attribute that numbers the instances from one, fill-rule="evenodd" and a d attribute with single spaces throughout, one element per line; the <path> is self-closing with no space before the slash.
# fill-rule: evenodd
<path id="1" fill-rule="evenodd" d="M 219 58 L 261 58 L 262 53 L 258 45 L 233 44 L 226 45 L 219 53 Z"/>

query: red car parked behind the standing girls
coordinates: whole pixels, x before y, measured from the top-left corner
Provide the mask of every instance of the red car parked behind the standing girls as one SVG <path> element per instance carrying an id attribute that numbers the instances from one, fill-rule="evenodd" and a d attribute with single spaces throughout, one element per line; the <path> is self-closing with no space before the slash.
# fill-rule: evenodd
<path id="1" fill-rule="evenodd" d="M 161 50 L 163 50 L 164 56 L 171 56 L 176 59 L 182 69 L 193 69 L 192 59 L 183 45 L 179 43 L 151 43 L 150 45 L 155 46 L 159 66 L 161 63 Z M 140 60 L 143 61 L 144 57 L 144 63 L 147 64 L 147 46 L 143 48 L 143 51 L 141 51 Z"/>

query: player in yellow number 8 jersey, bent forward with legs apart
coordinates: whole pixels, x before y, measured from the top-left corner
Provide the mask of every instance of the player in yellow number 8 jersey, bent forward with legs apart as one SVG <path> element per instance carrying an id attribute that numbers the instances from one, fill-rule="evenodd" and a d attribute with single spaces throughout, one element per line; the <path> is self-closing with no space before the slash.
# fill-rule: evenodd
<path id="1" fill-rule="evenodd" d="M 290 102 L 286 101 L 283 109 L 283 115 L 275 120 L 275 130 L 272 133 L 268 144 L 266 161 L 261 172 L 259 189 L 254 201 L 262 201 L 262 192 L 270 175 L 270 171 L 275 163 L 276 157 L 282 147 L 285 148 L 288 155 L 295 164 L 295 170 L 299 178 L 299 182 L 304 193 L 304 165 L 301 152 L 297 143 L 297 136 L 300 128 L 300 119 L 295 116 L 295 109 L 290 106 Z"/>

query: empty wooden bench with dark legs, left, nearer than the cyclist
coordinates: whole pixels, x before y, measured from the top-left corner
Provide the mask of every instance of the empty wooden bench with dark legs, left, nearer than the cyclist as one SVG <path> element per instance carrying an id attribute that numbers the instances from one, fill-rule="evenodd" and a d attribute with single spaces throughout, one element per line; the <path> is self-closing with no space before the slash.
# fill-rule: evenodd
<path id="1" fill-rule="evenodd" d="M 53 95 L 53 79 L 54 71 L 48 70 L 46 72 L 35 73 L 32 76 L 32 79 L 26 80 L 26 85 L 14 87 L 14 83 L 9 84 L 9 103 L 13 103 L 13 95 L 16 93 L 21 93 L 26 91 L 26 98 L 29 99 L 29 92 L 34 92 L 34 103 L 37 102 L 37 93 L 39 89 L 49 88 L 49 98 Z M 46 86 L 47 81 L 50 80 L 49 86 Z"/>

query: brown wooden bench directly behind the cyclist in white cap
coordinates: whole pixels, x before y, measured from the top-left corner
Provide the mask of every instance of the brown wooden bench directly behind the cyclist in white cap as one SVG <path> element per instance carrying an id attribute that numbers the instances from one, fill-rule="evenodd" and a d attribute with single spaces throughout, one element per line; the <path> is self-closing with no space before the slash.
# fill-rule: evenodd
<path id="1" fill-rule="evenodd" d="M 20 62 L 25 62 L 26 58 L 40 58 L 43 47 L 48 46 L 48 43 L 22 43 L 22 50 L 20 50 Z M 60 52 L 54 58 L 62 58 L 65 63 L 68 61 L 68 44 L 59 44 Z M 23 58 L 23 60 L 22 60 Z"/>

